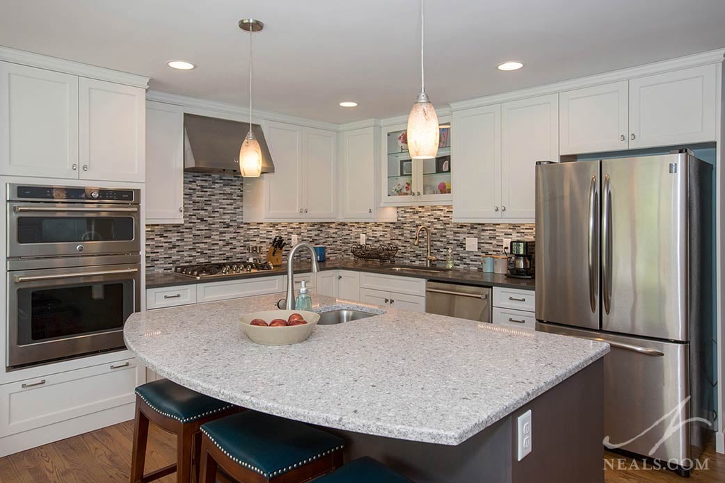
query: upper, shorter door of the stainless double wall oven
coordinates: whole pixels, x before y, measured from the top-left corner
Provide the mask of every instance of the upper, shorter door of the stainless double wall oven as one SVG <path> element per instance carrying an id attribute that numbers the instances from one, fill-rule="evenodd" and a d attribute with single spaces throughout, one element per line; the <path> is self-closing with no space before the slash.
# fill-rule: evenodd
<path id="1" fill-rule="evenodd" d="M 138 205 L 10 201 L 7 206 L 9 257 L 141 251 Z"/>

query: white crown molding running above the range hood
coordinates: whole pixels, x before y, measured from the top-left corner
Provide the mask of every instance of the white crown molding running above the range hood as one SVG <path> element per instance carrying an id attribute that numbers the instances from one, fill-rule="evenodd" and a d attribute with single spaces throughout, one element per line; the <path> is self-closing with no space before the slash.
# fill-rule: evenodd
<path id="1" fill-rule="evenodd" d="M 147 101 L 163 102 L 165 104 L 176 104 L 183 107 L 184 112 L 188 114 L 199 114 L 202 116 L 220 117 L 222 119 L 232 119 L 234 121 L 249 121 L 249 109 L 234 104 L 226 104 L 219 101 L 209 101 L 207 99 L 199 99 L 195 97 L 182 96 L 181 94 L 173 94 L 161 91 L 147 91 Z M 315 121 L 312 119 L 304 119 L 302 117 L 289 116 L 280 112 L 261 111 L 252 109 L 254 121 L 276 121 L 287 122 L 289 124 L 315 127 L 316 129 L 324 129 L 338 131 L 339 125 L 331 122 Z"/>

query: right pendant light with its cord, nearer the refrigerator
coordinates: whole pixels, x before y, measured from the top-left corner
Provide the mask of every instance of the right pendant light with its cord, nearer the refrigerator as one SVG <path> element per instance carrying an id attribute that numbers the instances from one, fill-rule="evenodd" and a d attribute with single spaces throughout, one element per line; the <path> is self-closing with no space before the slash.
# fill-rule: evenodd
<path id="1" fill-rule="evenodd" d="M 407 125 L 407 145 L 413 159 L 432 159 L 438 154 L 439 130 L 436 109 L 426 94 L 426 76 L 423 71 L 423 0 L 421 0 L 421 93 L 410 109 Z"/>

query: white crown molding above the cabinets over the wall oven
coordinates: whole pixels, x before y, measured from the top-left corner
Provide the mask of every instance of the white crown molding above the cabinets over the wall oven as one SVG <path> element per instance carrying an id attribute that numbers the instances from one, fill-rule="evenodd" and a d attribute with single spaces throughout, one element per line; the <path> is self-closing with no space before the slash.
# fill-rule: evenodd
<path id="1" fill-rule="evenodd" d="M 10 47 L 0 46 L 0 60 L 14 64 L 28 65 L 30 67 L 39 67 L 46 70 L 54 70 L 55 72 L 62 72 L 64 74 L 78 75 L 80 77 L 107 80 L 108 82 L 131 85 L 142 89 L 149 87 L 149 77 L 144 77 L 143 75 L 130 74 L 129 72 L 106 69 L 90 64 L 82 64 L 72 60 L 58 59 L 57 57 L 11 49 Z"/>

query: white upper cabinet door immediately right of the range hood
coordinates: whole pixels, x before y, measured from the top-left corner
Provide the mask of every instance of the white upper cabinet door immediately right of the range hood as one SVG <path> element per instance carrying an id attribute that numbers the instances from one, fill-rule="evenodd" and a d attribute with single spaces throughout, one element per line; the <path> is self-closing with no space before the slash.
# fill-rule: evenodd
<path id="1" fill-rule="evenodd" d="M 265 122 L 265 138 L 275 172 L 262 175 L 265 218 L 299 218 L 302 214 L 302 127 Z"/>

